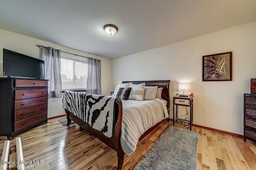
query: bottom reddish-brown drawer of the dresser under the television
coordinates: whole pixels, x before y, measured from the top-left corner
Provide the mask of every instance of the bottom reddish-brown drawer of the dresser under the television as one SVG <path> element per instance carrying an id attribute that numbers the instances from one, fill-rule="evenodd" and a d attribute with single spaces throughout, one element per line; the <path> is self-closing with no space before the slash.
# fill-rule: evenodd
<path id="1" fill-rule="evenodd" d="M 20 121 L 16 121 L 14 123 L 14 131 L 21 130 L 23 128 L 29 127 L 31 125 L 34 125 L 40 121 L 44 121 L 47 119 L 47 112 L 40 113 L 38 115 L 34 115 L 32 117 L 28 117 L 26 119 L 22 119 Z"/>

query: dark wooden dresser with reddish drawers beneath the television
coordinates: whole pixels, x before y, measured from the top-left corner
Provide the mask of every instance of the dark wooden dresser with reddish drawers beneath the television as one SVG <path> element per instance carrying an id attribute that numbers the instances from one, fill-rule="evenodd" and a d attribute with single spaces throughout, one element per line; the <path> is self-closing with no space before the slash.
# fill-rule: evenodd
<path id="1" fill-rule="evenodd" d="M 47 123 L 47 88 L 47 80 L 0 78 L 0 136 Z"/>

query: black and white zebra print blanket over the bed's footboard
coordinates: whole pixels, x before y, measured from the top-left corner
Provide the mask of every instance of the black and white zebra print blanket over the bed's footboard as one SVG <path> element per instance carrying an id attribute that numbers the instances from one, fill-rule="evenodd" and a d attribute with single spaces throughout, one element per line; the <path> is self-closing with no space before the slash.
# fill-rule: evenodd
<path id="1" fill-rule="evenodd" d="M 116 99 L 110 96 L 65 91 L 63 108 L 110 138 L 114 134 L 116 122 L 114 108 Z"/>

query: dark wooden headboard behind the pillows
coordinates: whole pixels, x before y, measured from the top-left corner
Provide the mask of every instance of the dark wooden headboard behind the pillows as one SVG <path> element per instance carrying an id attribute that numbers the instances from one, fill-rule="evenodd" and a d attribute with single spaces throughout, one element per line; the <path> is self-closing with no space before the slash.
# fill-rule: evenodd
<path id="1" fill-rule="evenodd" d="M 152 80 L 152 81 L 123 81 L 122 83 L 140 84 L 145 82 L 145 86 L 158 86 L 163 87 L 162 90 L 162 99 L 166 100 L 167 109 L 170 109 L 170 80 Z M 169 110 L 168 110 L 169 113 Z"/>

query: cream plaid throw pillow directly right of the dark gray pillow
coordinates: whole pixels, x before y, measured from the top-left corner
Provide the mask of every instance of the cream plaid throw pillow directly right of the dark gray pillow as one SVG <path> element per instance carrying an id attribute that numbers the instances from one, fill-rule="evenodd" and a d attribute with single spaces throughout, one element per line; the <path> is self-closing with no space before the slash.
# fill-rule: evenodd
<path id="1" fill-rule="evenodd" d="M 140 83 L 138 85 L 131 83 L 130 87 L 132 87 L 132 90 L 131 90 L 129 99 L 143 101 L 145 83 Z"/>

